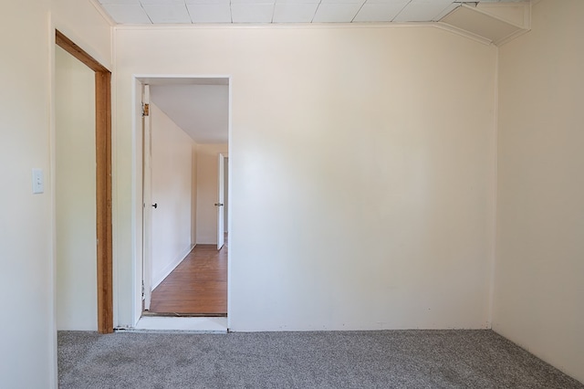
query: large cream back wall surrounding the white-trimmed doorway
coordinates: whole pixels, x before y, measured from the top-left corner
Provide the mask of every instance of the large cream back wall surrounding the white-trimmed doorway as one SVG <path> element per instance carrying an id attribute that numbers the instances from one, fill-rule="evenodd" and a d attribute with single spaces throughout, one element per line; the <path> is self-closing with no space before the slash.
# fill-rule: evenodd
<path id="1" fill-rule="evenodd" d="M 120 27 L 116 42 L 125 216 L 131 75 L 231 76 L 232 330 L 490 326 L 495 47 L 427 26 Z M 131 247 L 116 247 L 126 325 Z"/>

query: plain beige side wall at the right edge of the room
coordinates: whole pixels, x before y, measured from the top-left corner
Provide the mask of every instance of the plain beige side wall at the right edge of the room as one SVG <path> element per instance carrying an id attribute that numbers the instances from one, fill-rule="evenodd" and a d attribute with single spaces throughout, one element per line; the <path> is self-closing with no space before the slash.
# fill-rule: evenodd
<path id="1" fill-rule="evenodd" d="M 500 48 L 493 329 L 584 382 L 584 3 Z"/>

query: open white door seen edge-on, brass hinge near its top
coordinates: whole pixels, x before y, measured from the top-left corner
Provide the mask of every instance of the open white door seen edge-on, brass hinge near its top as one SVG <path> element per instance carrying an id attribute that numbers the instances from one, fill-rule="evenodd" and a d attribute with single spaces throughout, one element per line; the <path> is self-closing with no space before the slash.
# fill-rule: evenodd
<path id="1" fill-rule="evenodd" d="M 150 86 L 142 88 L 142 137 L 143 137 L 143 177 L 142 177 L 142 300 L 144 310 L 150 310 L 152 294 L 152 207 L 151 207 L 151 121 L 150 121 Z"/>

